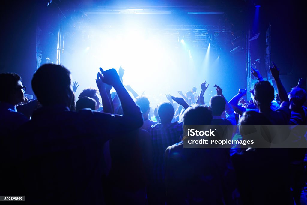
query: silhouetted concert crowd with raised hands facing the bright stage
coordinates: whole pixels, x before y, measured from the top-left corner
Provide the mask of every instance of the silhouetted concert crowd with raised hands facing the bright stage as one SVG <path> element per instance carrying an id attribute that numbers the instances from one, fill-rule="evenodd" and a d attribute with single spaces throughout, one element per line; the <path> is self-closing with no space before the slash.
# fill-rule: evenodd
<path id="1" fill-rule="evenodd" d="M 227 101 L 214 85 L 206 105 L 204 81 L 199 95 L 196 87 L 167 94 L 156 108 L 123 85 L 122 67 L 100 68 L 97 89 L 77 98 L 62 65 L 34 73 L 37 99 L 25 97 L 18 74 L 2 73 L 0 196 L 27 204 L 307 204 L 305 148 L 184 149 L 183 125 L 306 125 L 305 82 L 287 93 L 273 62 L 270 71 L 276 99 L 252 68 L 252 101 L 246 88 Z M 242 140 L 240 132 L 233 137 Z"/>

